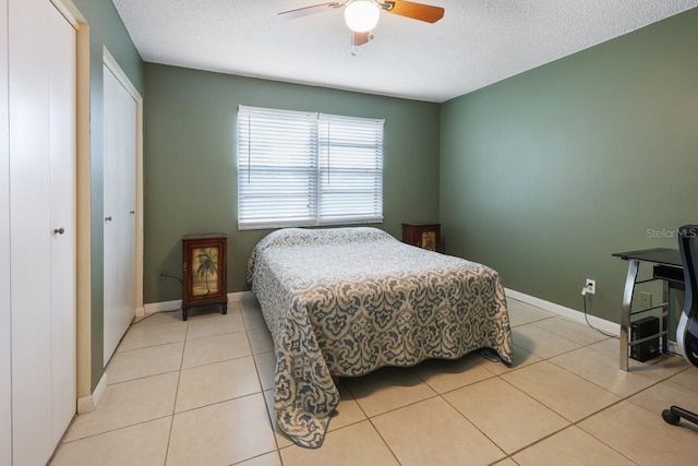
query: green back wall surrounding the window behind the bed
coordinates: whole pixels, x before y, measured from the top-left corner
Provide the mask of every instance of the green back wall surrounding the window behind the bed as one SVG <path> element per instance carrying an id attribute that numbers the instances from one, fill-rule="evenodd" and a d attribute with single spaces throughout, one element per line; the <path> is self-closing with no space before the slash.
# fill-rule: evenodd
<path id="1" fill-rule="evenodd" d="M 380 77 L 377 77 L 380 79 Z M 144 301 L 181 298 L 180 238 L 228 235 L 228 292 L 246 289 L 244 271 L 268 230 L 237 227 L 239 105 L 385 118 L 384 217 L 380 228 L 401 236 L 401 223 L 437 220 L 440 106 L 280 82 L 145 64 Z"/>

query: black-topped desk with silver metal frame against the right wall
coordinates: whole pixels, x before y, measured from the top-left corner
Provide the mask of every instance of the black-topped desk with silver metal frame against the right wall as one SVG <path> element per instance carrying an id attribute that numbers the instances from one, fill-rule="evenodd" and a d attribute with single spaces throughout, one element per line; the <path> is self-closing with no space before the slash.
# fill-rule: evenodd
<path id="1" fill-rule="evenodd" d="M 628 348 L 633 345 L 638 345 L 660 336 L 662 338 L 662 353 L 669 353 L 670 288 L 684 289 L 684 270 L 681 253 L 677 249 L 643 249 L 640 251 L 616 252 L 613 255 L 621 258 L 624 261 L 628 261 L 628 275 L 625 279 L 623 309 L 621 313 L 621 369 L 627 371 Z M 652 278 L 638 282 L 637 275 L 640 270 L 640 262 L 649 262 L 653 264 Z M 633 310 L 631 304 L 635 286 L 653 280 L 663 282 L 662 303 L 659 306 L 650 306 L 645 309 Z M 631 316 L 658 309 L 662 309 L 662 326 L 660 328 L 660 333 L 630 342 L 628 332 Z"/>

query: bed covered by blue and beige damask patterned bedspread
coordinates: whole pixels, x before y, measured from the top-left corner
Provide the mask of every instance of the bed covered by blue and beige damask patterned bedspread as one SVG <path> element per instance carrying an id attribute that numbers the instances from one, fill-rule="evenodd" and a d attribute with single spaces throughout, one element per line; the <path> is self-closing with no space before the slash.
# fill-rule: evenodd
<path id="1" fill-rule="evenodd" d="M 376 228 L 272 232 L 252 252 L 248 282 L 274 339 L 276 418 L 301 446 L 323 443 L 339 403 L 332 375 L 485 347 L 512 362 L 495 271 Z"/>

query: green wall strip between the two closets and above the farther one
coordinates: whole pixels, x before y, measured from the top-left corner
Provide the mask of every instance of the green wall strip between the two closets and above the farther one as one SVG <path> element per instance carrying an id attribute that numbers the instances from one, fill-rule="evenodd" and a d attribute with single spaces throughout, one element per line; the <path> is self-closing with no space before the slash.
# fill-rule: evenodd
<path id="1" fill-rule="evenodd" d="M 104 154 L 103 50 L 109 52 L 144 95 L 144 70 L 111 0 L 72 0 L 89 25 L 89 118 L 92 193 L 92 389 L 104 373 Z"/>

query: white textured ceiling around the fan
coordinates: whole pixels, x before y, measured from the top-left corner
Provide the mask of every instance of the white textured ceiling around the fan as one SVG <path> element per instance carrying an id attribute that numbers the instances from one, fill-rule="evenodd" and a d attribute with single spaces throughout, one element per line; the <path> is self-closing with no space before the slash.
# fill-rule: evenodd
<path id="1" fill-rule="evenodd" d="M 413 0 L 417 1 L 417 0 Z M 445 101 L 698 5 L 698 0 L 425 0 L 435 24 L 386 12 L 351 55 L 323 0 L 113 0 L 148 62 Z"/>

